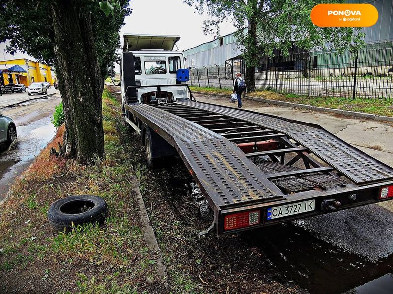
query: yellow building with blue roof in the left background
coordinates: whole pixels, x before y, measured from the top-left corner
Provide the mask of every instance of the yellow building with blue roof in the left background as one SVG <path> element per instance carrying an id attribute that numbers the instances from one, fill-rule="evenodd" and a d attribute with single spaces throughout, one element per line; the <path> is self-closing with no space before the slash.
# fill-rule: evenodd
<path id="1" fill-rule="evenodd" d="M 15 73 L 7 71 L 7 69 L 15 65 L 19 65 L 26 72 Z M 57 83 L 55 73 L 52 72 L 50 66 L 29 59 L 21 58 L 0 61 L 0 71 L 0 83 L 4 86 L 7 84 L 24 84 L 28 87 L 34 82 L 49 82 L 51 85 L 53 82 Z"/>

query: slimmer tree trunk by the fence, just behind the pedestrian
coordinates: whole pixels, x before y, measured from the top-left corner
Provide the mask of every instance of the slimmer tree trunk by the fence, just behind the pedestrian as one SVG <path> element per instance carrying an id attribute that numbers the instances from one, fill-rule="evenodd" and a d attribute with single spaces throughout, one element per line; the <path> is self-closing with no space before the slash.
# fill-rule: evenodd
<path id="1" fill-rule="evenodd" d="M 257 47 L 257 22 L 254 19 L 249 20 L 249 28 L 247 32 L 247 51 L 248 62 L 246 63 L 246 85 L 247 91 L 255 91 L 255 66 L 259 58 L 259 51 Z"/>

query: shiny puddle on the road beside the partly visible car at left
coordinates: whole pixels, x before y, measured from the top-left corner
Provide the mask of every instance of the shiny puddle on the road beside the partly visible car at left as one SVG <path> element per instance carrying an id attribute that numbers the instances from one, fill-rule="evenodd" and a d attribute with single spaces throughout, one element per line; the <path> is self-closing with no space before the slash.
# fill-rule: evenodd
<path id="1" fill-rule="evenodd" d="M 53 138 L 56 128 L 50 118 L 17 127 L 18 140 L 0 153 L 0 200 L 9 187 Z"/>

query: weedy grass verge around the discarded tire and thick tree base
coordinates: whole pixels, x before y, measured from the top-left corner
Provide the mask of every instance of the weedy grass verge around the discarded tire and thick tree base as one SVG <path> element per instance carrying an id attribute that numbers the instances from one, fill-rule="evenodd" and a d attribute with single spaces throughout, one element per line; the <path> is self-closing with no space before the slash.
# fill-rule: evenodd
<path id="1" fill-rule="evenodd" d="M 127 129 L 120 103 L 107 90 L 103 127 L 105 157 L 84 166 L 49 155 L 51 147 L 63 143 L 64 125 L 60 126 L 0 207 L 0 276 L 17 292 L 24 291 L 18 289 L 23 286 L 18 286 L 15 274 L 24 285 L 30 280 L 43 293 L 143 293 L 155 282 L 153 253 L 144 242 L 133 204 L 129 179 L 134 172 L 129 143 L 124 142 Z M 78 194 L 106 200 L 105 225 L 56 232 L 47 222 L 50 204 Z M 66 281 L 59 283 L 64 276 Z"/>

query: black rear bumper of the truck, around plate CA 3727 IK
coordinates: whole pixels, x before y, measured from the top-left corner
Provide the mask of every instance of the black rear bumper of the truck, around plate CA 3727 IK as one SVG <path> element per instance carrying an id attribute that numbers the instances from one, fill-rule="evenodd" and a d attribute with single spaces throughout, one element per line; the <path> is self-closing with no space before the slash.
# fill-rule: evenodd
<path id="1" fill-rule="evenodd" d="M 307 193 L 296 193 L 292 195 L 286 196 L 284 199 L 280 199 L 279 201 L 274 202 L 265 202 L 261 204 L 248 205 L 243 207 L 236 208 L 228 208 L 223 209 L 218 212 L 217 227 L 216 233 L 218 235 L 224 235 L 233 232 L 240 232 L 245 230 L 251 230 L 255 228 L 260 228 L 268 225 L 275 225 L 287 221 L 293 221 L 297 219 L 308 218 L 316 215 L 331 213 L 335 211 L 340 211 L 344 209 L 354 208 L 363 205 L 375 204 L 379 202 L 384 202 L 387 200 L 393 200 L 393 198 L 387 199 L 379 199 L 380 190 L 382 187 L 393 185 L 393 181 L 367 185 L 363 187 L 348 187 L 339 190 L 331 190 L 331 191 L 320 191 L 316 192 L 313 195 L 309 195 Z M 303 194 L 303 195 L 302 195 Z M 353 195 L 356 195 L 356 199 L 353 200 Z M 268 209 L 276 206 L 294 204 L 306 200 L 315 200 L 315 210 L 300 213 L 295 215 L 290 215 L 286 217 L 276 218 L 276 219 L 267 219 Z M 330 210 L 326 207 L 326 203 L 328 201 L 338 201 L 341 203 L 339 208 L 335 210 Z M 254 224 L 241 229 L 233 229 L 233 230 L 224 230 L 224 219 L 226 215 L 245 212 L 245 211 L 259 211 L 260 212 L 260 222 L 258 224 Z"/>

